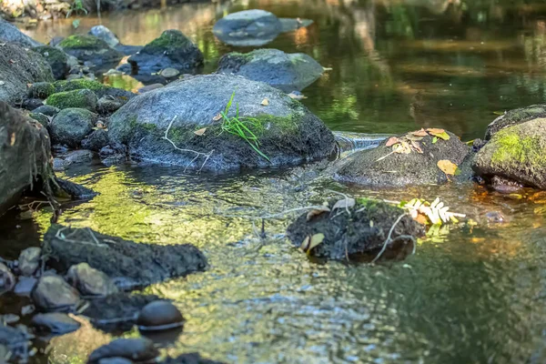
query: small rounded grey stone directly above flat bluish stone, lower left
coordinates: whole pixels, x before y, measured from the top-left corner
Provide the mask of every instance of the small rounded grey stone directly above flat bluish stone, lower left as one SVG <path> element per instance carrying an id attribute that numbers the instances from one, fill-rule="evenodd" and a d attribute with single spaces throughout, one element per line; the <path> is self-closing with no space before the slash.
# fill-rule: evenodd
<path id="1" fill-rule="evenodd" d="M 76 289 L 58 276 L 42 276 L 38 280 L 32 299 L 37 308 L 46 311 L 71 311 L 80 301 Z"/>

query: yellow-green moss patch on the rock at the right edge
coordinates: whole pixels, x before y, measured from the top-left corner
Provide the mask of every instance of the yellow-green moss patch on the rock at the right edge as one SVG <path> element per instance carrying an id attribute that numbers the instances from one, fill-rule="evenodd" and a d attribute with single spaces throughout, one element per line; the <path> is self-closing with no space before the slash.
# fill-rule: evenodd
<path id="1" fill-rule="evenodd" d="M 491 157 L 491 163 L 495 166 L 521 164 L 546 167 L 546 155 L 541 147 L 540 136 L 521 137 L 508 128 L 497 133 L 493 146 L 496 149 Z"/>

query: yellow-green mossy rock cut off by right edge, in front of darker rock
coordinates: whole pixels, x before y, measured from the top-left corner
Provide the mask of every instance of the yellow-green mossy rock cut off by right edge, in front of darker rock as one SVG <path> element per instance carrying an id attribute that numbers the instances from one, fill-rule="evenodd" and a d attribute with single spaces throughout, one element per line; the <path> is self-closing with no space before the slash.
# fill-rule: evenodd
<path id="1" fill-rule="evenodd" d="M 474 170 L 546 189 L 546 118 L 501 129 L 480 149 Z"/>

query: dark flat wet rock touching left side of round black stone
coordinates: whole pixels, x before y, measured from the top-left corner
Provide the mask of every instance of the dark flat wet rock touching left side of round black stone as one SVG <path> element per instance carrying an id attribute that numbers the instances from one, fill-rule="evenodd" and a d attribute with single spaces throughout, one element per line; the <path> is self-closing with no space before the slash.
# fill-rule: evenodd
<path id="1" fill-rule="evenodd" d="M 119 332 L 133 329 L 142 308 L 156 301 L 157 296 L 116 293 L 106 298 L 88 301 L 83 314 L 93 326 L 106 332 Z"/>

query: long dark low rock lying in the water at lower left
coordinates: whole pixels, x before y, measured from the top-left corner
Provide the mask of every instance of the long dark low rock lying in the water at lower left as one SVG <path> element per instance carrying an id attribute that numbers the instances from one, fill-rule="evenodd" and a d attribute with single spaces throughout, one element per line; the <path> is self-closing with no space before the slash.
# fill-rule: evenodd
<path id="1" fill-rule="evenodd" d="M 73 244 L 56 237 L 56 231 L 63 228 L 70 240 L 88 244 Z M 136 244 L 121 238 L 108 237 L 89 229 L 52 226 L 44 237 L 44 247 L 52 263 L 61 271 L 78 263 L 86 262 L 115 280 L 121 280 L 127 287 L 143 286 L 167 278 L 185 276 L 204 270 L 207 259 L 194 246 L 188 244 L 157 246 Z M 98 244 L 96 243 L 98 241 Z"/>

